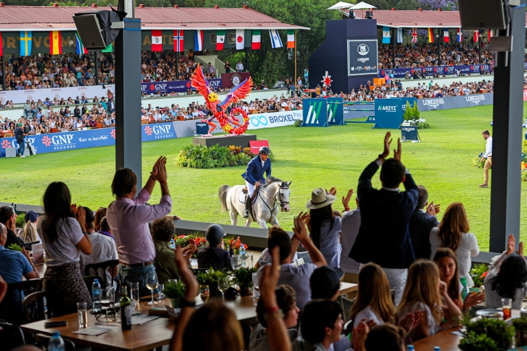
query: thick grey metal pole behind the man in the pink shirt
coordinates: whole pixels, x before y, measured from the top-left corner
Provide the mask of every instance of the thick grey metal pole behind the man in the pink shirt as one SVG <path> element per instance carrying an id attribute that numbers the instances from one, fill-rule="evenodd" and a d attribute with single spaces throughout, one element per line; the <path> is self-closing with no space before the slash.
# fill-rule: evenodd
<path id="1" fill-rule="evenodd" d="M 133 4 L 133 2 L 132 2 Z M 128 11 L 126 11 L 128 12 Z M 133 13 L 133 12 L 132 12 Z M 130 12 L 128 12 L 130 14 Z M 115 167 L 129 168 L 141 181 L 141 19 L 123 19 L 115 39 Z"/>

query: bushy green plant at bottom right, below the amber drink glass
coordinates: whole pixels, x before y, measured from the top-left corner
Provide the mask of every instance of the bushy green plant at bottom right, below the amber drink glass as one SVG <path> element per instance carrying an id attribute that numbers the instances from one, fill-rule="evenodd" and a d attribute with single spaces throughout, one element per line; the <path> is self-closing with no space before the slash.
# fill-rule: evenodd
<path id="1" fill-rule="evenodd" d="M 476 322 L 464 320 L 465 331 L 462 332 L 459 348 L 462 351 L 506 351 L 510 348 L 513 336 L 513 326 L 501 319 L 482 318 Z"/>

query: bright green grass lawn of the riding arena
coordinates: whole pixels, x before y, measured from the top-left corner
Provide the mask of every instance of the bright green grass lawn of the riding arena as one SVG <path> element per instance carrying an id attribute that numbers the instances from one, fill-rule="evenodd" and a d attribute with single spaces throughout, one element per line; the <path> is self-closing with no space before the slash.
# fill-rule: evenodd
<path id="1" fill-rule="evenodd" d="M 428 188 L 430 200 L 443 210 L 452 202 L 467 208 L 471 231 L 478 237 L 480 248 L 489 248 L 490 189 L 480 189 L 482 169 L 471 165 L 472 158 L 484 150 L 481 131 L 491 128 L 492 106 L 458 110 L 422 112 L 432 126 L 421 130 L 422 143 L 403 143 L 403 163 L 418 184 Z M 331 128 L 270 128 L 257 131 L 259 138 L 268 138 L 277 160 L 273 175 L 292 180 L 290 213 L 279 213 L 279 222 L 290 230 L 292 218 L 310 198 L 313 189 L 336 186 L 339 198 L 347 189 L 356 189 L 364 167 L 382 152 L 386 130 L 372 130 L 369 124 L 332 126 Z M 398 130 L 393 133 L 397 138 Z M 173 214 L 194 221 L 230 223 L 229 214 L 220 212 L 218 189 L 222 184 L 242 184 L 243 166 L 222 169 L 186 169 L 176 167 L 175 159 L 191 138 L 176 138 L 143 143 L 143 179 L 159 155 L 169 159 L 169 188 L 174 199 Z M 4 158 L 0 161 L 2 202 L 42 204 L 49 182 L 61 180 L 71 190 L 73 202 L 93 210 L 107 206 L 113 199 L 110 183 L 115 170 L 115 148 L 71 150 L 41 154 L 29 158 Z M 518 175 L 519 176 L 519 175 Z M 380 186 L 378 175 L 374 186 Z M 522 186 L 522 199 L 527 195 Z M 160 196 L 154 191 L 155 202 Z M 522 202 L 522 214 L 527 202 Z M 341 210 L 342 204 L 336 202 Z M 383 214 L 379 213 L 379 220 Z M 439 215 L 441 217 L 441 214 Z M 254 224 L 253 224 L 254 225 Z M 526 239 L 527 221 L 522 220 L 522 238 Z"/>

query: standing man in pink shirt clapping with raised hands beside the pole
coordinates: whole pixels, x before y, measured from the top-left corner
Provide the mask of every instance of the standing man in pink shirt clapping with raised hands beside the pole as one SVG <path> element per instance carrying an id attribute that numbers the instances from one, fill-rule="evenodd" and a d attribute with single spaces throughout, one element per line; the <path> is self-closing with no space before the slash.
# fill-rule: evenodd
<path id="1" fill-rule="evenodd" d="M 156 161 L 150 178 L 137 197 L 137 177 L 128 169 L 115 172 L 112 191 L 116 199 L 108 206 L 106 220 L 117 244 L 119 256 L 119 276 L 121 282 L 139 282 L 141 296 L 150 294 L 145 279 L 148 273 L 155 272 L 156 250 L 148 228 L 148 222 L 165 217 L 172 210 L 172 199 L 168 191 L 167 159 L 163 156 Z M 161 185 L 161 202 L 148 205 L 156 181 Z"/>

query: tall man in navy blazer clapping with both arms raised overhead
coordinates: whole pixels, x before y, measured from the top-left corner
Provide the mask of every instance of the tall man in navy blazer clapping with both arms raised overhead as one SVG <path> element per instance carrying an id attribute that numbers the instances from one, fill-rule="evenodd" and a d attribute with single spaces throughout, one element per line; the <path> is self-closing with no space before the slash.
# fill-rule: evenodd
<path id="1" fill-rule="evenodd" d="M 395 290 L 395 303 L 402 297 L 408 267 L 415 261 L 408 225 L 418 202 L 417 185 L 401 163 L 401 141 L 394 158 L 390 154 L 390 132 L 384 137 L 384 152 L 362 171 L 358 184 L 360 228 L 349 257 L 359 263 L 374 262 Z M 382 167 L 381 167 L 382 165 Z M 371 186 L 371 178 L 381 167 L 382 189 Z M 400 191 L 401 182 L 406 191 Z"/>

